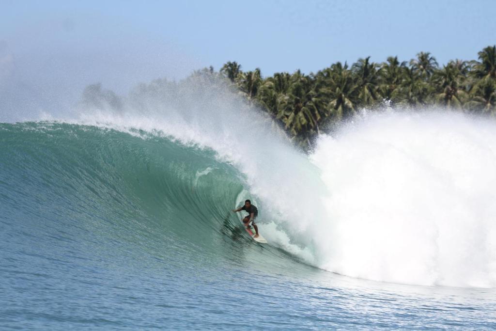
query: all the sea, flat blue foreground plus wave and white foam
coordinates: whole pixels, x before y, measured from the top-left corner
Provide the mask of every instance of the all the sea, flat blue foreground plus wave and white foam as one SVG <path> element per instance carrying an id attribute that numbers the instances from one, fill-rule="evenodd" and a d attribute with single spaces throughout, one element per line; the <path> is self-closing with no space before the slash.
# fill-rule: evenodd
<path id="1" fill-rule="evenodd" d="M 0 330 L 496 329 L 493 122 L 205 107 L 0 124 Z"/>

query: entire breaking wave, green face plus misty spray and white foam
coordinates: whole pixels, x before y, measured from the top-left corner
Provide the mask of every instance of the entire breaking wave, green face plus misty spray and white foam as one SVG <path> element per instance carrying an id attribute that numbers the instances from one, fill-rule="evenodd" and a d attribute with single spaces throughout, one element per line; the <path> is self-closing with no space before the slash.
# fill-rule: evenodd
<path id="1" fill-rule="evenodd" d="M 2 124 L 5 222 L 21 215 L 89 237 L 110 223 L 116 244 L 165 242 L 177 259 L 213 261 L 246 239 L 229 211 L 250 198 L 270 247 L 306 264 L 377 281 L 496 286 L 493 121 L 384 112 L 323 134 L 309 157 L 222 86 L 179 86 L 178 99 L 161 84 L 118 109 Z"/>

